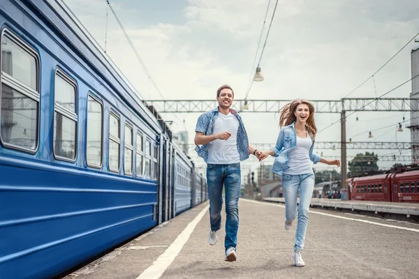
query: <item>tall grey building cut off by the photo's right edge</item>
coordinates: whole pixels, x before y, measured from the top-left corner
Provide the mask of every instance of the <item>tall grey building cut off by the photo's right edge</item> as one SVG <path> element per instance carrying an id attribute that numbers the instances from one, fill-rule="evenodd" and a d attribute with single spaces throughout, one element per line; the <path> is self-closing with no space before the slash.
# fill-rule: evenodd
<path id="1" fill-rule="evenodd" d="M 416 47 L 411 52 L 411 66 L 412 66 L 412 77 L 419 75 L 419 47 Z M 419 98 L 419 77 L 412 80 L 412 92 L 410 95 L 411 99 Z M 419 112 L 411 112 L 410 126 L 406 126 L 411 130 L 411 142 L 419 142 Z M 418 163 L 419 146 L 413 146 L 412 149 L 412 163 Z"/>

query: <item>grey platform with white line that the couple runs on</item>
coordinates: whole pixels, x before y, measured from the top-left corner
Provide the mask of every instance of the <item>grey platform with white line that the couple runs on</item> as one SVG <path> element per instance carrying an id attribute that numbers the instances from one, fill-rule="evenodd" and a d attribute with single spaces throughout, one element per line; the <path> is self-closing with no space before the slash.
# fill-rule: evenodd
<path id="1" fill-rule="evenodd" d="M 224 261 L 224 227 L 214 246 L 208 202 L 156 227 L 66 279 L 418 278 L 419 225 L 310 209 L 302 257 L 293 265 L 296 221 L 284 205 L 240 199 L 236 262 Z M 223 213 L 222 222 L 225 225 Z"/>

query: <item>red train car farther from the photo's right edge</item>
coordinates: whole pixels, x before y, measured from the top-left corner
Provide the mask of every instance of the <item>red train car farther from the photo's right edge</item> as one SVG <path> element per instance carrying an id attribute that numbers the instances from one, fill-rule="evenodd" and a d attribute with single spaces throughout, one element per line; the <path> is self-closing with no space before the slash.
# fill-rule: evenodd
<path id="1" fill-rule="evenodd" d="M 350 199 L 390 202 L 391 174 L 348 179 Z"/>

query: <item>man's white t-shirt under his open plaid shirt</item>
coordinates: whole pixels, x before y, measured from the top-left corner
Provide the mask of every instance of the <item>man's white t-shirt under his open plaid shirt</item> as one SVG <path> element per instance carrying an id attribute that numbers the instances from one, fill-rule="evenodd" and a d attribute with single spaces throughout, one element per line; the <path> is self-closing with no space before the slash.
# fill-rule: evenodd
<path id="1" fill-rule="evenodd" d="M 237 151 L 237 130 L 239 119 L 229 112 L 227 115 L 219 113 L 214 122 L 213 134 L 230 132 L 228 140 L 214 140 L 210 144 L 207 164 L 227 165 L 240 163 L 239 151 Z"/>

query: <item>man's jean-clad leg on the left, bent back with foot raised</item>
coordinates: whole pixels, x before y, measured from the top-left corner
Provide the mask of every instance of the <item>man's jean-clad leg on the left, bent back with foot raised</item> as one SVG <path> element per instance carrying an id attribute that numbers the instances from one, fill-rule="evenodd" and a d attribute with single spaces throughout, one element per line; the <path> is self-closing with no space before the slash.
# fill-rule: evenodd
<path id="1" fill-rule="evenodd" d="M 210 223 L 213 232 L 221 228 L 223 206 L 223 168 L 221 165 L 207 165 L 208 196 L 210 197 Z"/>

